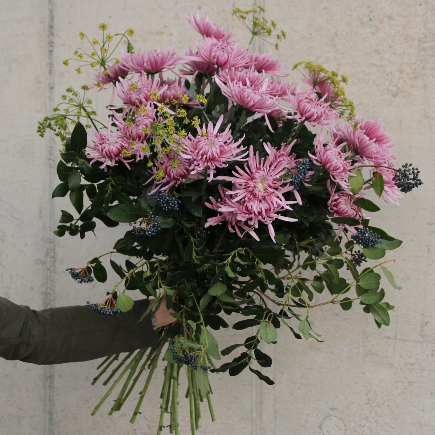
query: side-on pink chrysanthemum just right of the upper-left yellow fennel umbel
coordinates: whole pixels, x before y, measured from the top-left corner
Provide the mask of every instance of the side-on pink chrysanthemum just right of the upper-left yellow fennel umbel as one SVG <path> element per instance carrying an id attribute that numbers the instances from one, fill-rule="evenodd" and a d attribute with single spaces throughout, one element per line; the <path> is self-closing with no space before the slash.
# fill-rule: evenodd
<path id="1" fill-rule="evenodd" d="M 165 70 L 173 70 L 179 63 L 175 48 L 162 50 L 155 48 L 144 53 L 123 53 L 121 63 L 135 73 L 157 74 Z"/>

